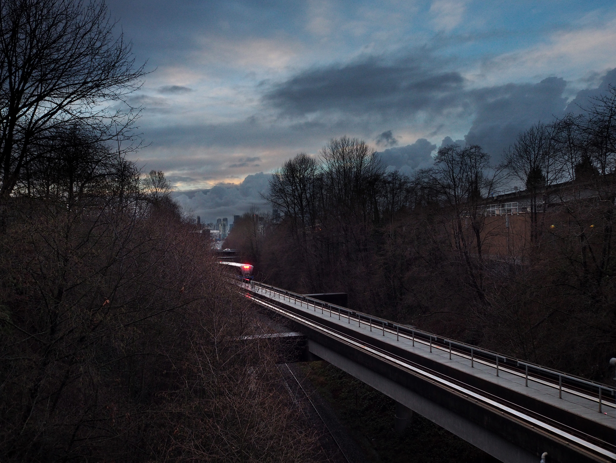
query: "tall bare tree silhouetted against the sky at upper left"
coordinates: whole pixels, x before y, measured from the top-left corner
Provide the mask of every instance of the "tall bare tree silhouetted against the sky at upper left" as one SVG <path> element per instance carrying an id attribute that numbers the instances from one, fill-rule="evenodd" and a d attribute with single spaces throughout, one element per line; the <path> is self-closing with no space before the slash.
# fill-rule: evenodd
<path id="1" fill-rule="evenodd" d="M 104 1 L 7 0 L 0 4 L 0 196 L 79 127 L 94 142 L 131 138 L 126 95 L 139 87 L 131 45 L 114 38 Z M 124 103 L 124 109 L 105 107 Z"/>

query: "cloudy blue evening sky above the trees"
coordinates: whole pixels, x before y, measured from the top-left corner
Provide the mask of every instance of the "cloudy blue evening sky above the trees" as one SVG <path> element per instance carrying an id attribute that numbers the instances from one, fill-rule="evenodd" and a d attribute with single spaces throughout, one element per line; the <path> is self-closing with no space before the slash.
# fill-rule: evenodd
<path id="1" fill-rule="evenodd" d="M 497 163 L 531 124 L 616 84 L 616 2 L 107 4 L 148 71 L 129 100 L 144 108 L 133 158 L 203 222 L 267 210 L 269 172 L 333 137 L 407 174 L 451 140 Z"/>

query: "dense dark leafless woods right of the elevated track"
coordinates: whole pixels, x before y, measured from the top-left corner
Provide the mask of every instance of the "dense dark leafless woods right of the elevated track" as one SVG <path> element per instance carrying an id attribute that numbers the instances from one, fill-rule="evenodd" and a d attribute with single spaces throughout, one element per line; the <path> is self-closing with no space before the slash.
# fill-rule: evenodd
<path id="1" fill-rule="evenodd" d="M 610 382 L 616 88 L 585 109 L 519 134 L 497 166 L 453 144 L 412 177 L 333 139 L 275 171 L 279 213 L 243 215 L 225 247 L 267 283 L 347 292 L 357 310 Z M 512 185 L 524 207 L 500 209 Z"/>

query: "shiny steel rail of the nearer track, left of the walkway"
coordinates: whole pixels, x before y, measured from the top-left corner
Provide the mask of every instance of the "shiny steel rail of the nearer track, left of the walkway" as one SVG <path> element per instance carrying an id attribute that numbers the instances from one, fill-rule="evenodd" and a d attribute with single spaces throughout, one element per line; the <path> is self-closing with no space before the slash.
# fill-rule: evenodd
<path id="1" fill-rule="evenodd" d="M 585 449 L 585 451 L 589 451 L 590 453 L 593 454 L 599 454 L 603 457 L 607 457 L 609 459 L 612 460 L 616 460 L 616 453 L 609 451 L 607 449 L 602 448 L 601 446 L 598 446 L 590 441 L 587 441 L 583 438 L 580 438 L 578 436 L 576 436 L 575 434 L 571 433 L 571 432 L 567 432 L 562 428 L 556 427 L 555 425 L 546 423 L 545 421 L 541 421 L 541 419 L 537 419 L 536 417 L 531 416 L 529 413 L 524 413 L 523 411 L 519 411 L 516 410 L 515 408 L 513 408 L 512 406 L 508 406 L 505 405 L 503 403 L 500 403 L 496 400 L 493 400 L 492 398 L 489 397 L 485 397 L 485 394 L 488 395 L 492 395 L 490 393 L 487 392 L 483 392 L 484 395 L 482 395 L 482 393 L 477 393 L 474 392 L 473 390 L 469 389 L 469 385 L 460 385 L 460 384 L 456 384 L 455 380 L 451 379 L 451 378 L 444 378 L 444 377 L 440 377 L 437 374 L 431 373 L 429 371 L 426 371 L 426 369 L 422 369 L 422 368 L 418 368 L 417 366 L 414 366 L 413 364 L 408 363 L 409 361 L 406 359 L 402 359 L 402 358 L 397 358 L 396 356 L 394 356 L 391 353 L 386 353 L 386 352 L 381 352 L 378 349 L 374 348 L 374 347 L 370 347 L 368 345 L 363 344 L 362 342 L 360 342 L 359 340 L 355 340 L 354 338 L 350 337 L 350 336 L 346 336 L 344 334 L 341 334 L 337 331 L 333 331 L 332 329 L 319 324 L 319 323 L 315 323 L 314 321 L 311 321 L 307 318 L 304 318 L 302 316 L 297 315 L 296 313 L 290 312 L 288 310 L 285 310 L 282 307 L 278 307 L 277 305 L 274 304 L 270 304 L 269 302 L 259 299 L 259 297 L 255 297 L 252 294 L 249 293 L 245 293 L 246 297 L 249 297 L 249 299 L 254 300 L 255 302 L 257 302 L 257 304 L 261 304 L 264 305 L 264 307 L 270 308 L 271 310 L 274 310 L 275 312 L 281 313 L 282 315 L 286 316 L 287 318 L 291 318 L 292 320 L 298 321 L 299 323 L 305 324 L 307 326 L 310 326 L 313 329 L 316 329 L 320 332 L 323 332 L 325 334 L 327 334 L 328 336 L 334 337 L 334 339 L 338 339 L 341 340 L 342 342 L 346 342 L 347 344 L 351 344 L 352 346 L 354 346 L 355 348 L 362 350 L 363 352 L 367 352 L 370 353 L 373 356 L 377 356 L 378 358 L 381 358 L 383 360 L 388 361 L 389 363 L 394 363 L 395 365 L 408 369 L 409 371 L 418 374 L 419 376 L 425 377 L 429 380 L 431 380 L 432 382 L 436 382 L 444 387 L 446 387 L 447 389 L 453 390 L 455 392 L 461 393 L 464 396 L 467 397 L 471 397 L 474 400 L 477 400 L 481 403 L 483 403 L 485 406 L 488 406 L 489 408 L 492 409 L 496 409 L 498 411 L 500 411 L 500 413 L 505 414 L 506 416 L 509 417 L 514 417 L 516 419 L 519 419 L 522 422 L 525 422 L 525 424 L 530 425 L 531 427 L 538 427 L 541 430 L 543 430 L 543 432 L 548 433 L 549 435 L 551 435 L 551 437 L 553 438 L 557 438 L 559 440 L 564 440 L 564 441 L 569 441 L 569 443 L 573 443 L 576 446 L 581 446 L 582 448 Z M 553 421 L 551 419 L 546 418 L 548 421 L 552 421 L 554 423 L 556 423 L 556 421 Z M 560 424 L 562 427 L 565 427 L 567 429 L 572 429 L 569 426 L 562 424 L 562 423 L 558 423 Z M 601 440 L 599 440 L 601 441 Z M 603 442 L 603 441 L 601 441 Z M 607 443 L 606 443 L 607 444 Z"/>

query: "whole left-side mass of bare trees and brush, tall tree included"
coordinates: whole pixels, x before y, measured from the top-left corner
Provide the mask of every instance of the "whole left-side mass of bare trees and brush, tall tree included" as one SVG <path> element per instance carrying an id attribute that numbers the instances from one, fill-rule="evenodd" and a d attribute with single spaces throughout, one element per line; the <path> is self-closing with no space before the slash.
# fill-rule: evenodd
<path id="1" fill-rule="evenodd" d="M 0 12 L 0 459 L 318 459 L 258 314 L 126 158 L 144 68 L 105 4 Z"/>

